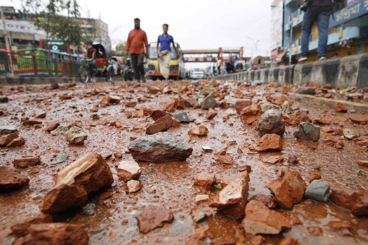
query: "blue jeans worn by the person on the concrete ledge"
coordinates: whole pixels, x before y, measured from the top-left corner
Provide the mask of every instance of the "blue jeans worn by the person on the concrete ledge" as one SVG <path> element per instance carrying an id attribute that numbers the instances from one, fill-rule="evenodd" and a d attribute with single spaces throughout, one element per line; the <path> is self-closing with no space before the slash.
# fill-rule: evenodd
<path id="1" fill-rule="evenodd" d="M 330 21 L 331 6 L 309 6 L 304 13 L 301 28 L 301 53 L 308 55 L 309 35 L 312 25 L 316 22 L 318 27 L 318 57 L 326 56 L 328 39 L 328 24 Z"/>

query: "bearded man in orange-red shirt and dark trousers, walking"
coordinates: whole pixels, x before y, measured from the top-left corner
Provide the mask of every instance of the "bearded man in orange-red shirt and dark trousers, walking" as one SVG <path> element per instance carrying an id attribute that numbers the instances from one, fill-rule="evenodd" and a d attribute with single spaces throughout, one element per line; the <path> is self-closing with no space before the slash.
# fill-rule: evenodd
<path id="1" fill-rule="evenodd" d="M 146 32 L 140 28 L 141 20 L 134 19 L 134 29 L 129 32 L 127 46 L 125 46 L 126 55 L 128 57 L 129 49 L 131 48 L 132 66 L 134 70 L 134 79 L 139 82 L 139 72 L 141 72 L 142 82 L 146 81 L 144 76 L 144 46 L 146 46 L 146 57 L 148 57 L 148 41 Z"/>

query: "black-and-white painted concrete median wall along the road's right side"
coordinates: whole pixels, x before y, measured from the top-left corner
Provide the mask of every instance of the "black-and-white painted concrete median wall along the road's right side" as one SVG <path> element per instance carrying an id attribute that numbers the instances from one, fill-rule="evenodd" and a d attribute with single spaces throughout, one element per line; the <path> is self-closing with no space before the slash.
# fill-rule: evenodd
<path id="1" fill-rule="evenodd" d="M 368 88 L 368 54 L 351 55 L 305 64 L 242 71 L 213 77 L 216 80 L 261 80 L 280 84 L 332 84 Z"/>

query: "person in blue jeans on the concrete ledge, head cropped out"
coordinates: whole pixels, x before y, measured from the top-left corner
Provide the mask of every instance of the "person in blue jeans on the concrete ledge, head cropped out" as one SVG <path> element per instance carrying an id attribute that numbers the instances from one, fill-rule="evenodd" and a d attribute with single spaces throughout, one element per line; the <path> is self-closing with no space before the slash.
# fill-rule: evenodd
<path id="1" fill-rule="evenodd" d="M 298 62 L 308 60 L 309 35 L 314 22 L 318 27 L 318 60 L 325 60 L 332 0 L 304 0 L 304 3 L 307 5 L 305 5 L 306 9 L 301 7 L 305 13 L 301 28 L 301 57 Z"/>

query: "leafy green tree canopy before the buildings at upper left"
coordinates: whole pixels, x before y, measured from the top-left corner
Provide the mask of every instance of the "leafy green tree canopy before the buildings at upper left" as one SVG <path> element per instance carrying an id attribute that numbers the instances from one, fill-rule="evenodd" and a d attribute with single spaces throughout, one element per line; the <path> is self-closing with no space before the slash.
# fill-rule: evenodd
<path id="1" fill-rule="evenodd" d="M 78 17 L 78 4 L 71 0 L 21 0 L 23 11 L 29 13 L 31 21 L 46 32 L 46 39 L 60 39 L 70 45 L 79 46 L 82 30 Z"/>

